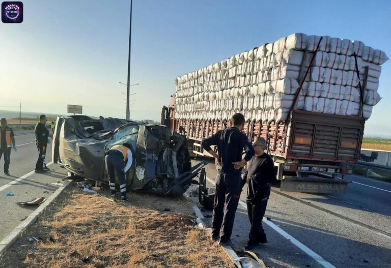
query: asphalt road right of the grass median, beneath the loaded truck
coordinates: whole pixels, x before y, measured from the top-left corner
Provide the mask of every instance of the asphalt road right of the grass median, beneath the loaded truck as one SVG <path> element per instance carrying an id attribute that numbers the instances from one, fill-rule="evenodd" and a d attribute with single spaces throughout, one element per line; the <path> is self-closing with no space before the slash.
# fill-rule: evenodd
<path id="1" fill-rule="evenodd" d="M 214 165 L 208 164 L 209 187 L 215 175 Z M 266 265 L 390 267 L 391 184 L 355 175 L 348 179 L 353 183 L 344 195 L 280 192 L 278 184 L 272 187 L 263 222 L 268 243 L 254 250 Z M 250 227 L 246 187 L 231 237 L 238 251 L 246 244 Z M 212 212 L 202 211 L 210 226 Z"/>

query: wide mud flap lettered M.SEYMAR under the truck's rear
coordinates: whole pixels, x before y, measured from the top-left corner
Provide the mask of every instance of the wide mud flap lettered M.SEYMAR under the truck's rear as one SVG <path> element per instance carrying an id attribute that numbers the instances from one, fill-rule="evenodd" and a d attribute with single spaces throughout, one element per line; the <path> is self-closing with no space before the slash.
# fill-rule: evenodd
<path id="1" fill-rule="evenodd" d="M 343 194 L 351 181 L 332 178 L 285 176 L 281 181 L 282 192 Z"/>

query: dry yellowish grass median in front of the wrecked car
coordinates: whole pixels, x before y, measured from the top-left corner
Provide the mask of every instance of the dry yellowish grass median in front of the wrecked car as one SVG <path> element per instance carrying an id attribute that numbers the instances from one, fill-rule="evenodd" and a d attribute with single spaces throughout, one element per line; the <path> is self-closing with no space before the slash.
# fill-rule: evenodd
<path id="1" fill-rule="evenodd" d="M 107 190 L 99 193 L 108 197 Z M 115 202 L 71 186 L 13 244 L 0 267 L 234 267 L 210 234 L 193 226 L 185 197 L 128 198 Z M 29 236 L 40 242 L 29 243 Z"/>

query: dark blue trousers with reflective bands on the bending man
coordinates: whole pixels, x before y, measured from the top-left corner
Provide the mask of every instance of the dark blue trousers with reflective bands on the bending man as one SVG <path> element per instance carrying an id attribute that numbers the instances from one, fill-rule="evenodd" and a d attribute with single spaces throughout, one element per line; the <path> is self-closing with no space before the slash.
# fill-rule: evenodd
<path id="1" fill-rule="evenodd" d="M 117 173 L 120 182 L 121 196 L 126 197 L 126 180 L 124 170 L 124 156 L 118 150 L 109 150 L 104 158 L 106 170 L 108 173 L 108 184 L 110 185 L 111 194 L 116 194 L 116 177 Z"/>

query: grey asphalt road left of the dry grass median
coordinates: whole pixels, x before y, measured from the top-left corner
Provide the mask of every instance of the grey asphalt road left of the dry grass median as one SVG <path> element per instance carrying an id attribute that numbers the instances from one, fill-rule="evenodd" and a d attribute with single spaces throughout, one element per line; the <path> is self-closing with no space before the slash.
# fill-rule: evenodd
<path id="1" fill-rule="evenodd" d="M 15 132 L 15 134 L 25 133 Z M 11 152 L 10 173 L 3 173 L 4 159 L 0 161 L 0 241 L 2 241 L 21 220 L 29 216 L 36 207 L 19 206 L 15 202 L 30 201 L 36 197 L 49 197 L 59 188 L 58 181 L 66 175 L 64 169 L 56 164 L 49 165 L 51 169 L 45 174 L 34 173 L 38 151 L 34 134 L 16 135 L 17 152 Z M 51 162 L 51 144 L 46 152 L 46 163 Z M 21 179 L 20 179 L 21 178 Z M 13 193 L 13 196 L 7 196 Z"/>

